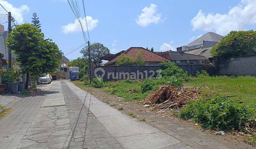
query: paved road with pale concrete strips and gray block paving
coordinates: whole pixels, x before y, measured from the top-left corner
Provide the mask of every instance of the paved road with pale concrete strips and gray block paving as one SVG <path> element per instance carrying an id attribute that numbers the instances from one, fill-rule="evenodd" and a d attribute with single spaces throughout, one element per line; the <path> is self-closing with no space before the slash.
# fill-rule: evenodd
<path id="1" fill-rule="evenodd" d="M 190 148 L 122 114 L 70 81 L 41 84 L 44 95 L 1 95 L 14 111 L 0 121 L 3 148 Z"/>

